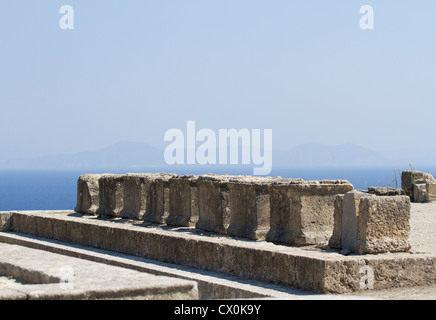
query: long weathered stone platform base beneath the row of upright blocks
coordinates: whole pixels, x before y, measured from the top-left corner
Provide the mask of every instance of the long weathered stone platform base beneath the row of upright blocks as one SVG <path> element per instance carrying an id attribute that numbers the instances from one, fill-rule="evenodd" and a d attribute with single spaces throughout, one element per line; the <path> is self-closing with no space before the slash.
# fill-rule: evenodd
<path id="1" fill-rule="evenodd" d="M 47 228 L 48 223 L 50 227 Z M 46 226 L 45 232 L 42 232 L 42 225 Z M 44 233 L 48 239 L 317 293 L 363 290 L 362 277 L 371 268 L 376 290 L 436 282 L 436 255 L 433 254 L 343 256 L 337 250 L 240 241 L 225 235 L 205 234 L 194 228 L 168 230 L 130 220 L 111 221 L 74 212 L 13 212 L 10 230 L 35 236 Z M 396 265 L 395 261 L 401 263 Z"/>

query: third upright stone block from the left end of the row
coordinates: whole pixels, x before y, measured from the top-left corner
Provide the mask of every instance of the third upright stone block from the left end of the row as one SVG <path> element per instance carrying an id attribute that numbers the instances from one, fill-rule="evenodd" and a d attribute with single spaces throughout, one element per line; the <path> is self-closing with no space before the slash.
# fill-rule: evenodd
<path id="1" fill-rule="evenodd" d="M 150 191 L 151 173 L 128 173 L 123 176 L 123 209 L 120 216 L 129 219 L 142 220 Z"/>

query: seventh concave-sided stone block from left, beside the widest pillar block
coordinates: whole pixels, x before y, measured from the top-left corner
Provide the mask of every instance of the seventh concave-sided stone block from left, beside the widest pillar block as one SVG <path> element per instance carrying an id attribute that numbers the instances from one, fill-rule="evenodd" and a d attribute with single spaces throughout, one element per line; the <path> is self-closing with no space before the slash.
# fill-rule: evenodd
<path id="1" fill-rule="evenodd" d="M 248 176 L 230 179 L 228 234 L 254 240 L 265 239 L 270 228 L 270 179 Z"/>

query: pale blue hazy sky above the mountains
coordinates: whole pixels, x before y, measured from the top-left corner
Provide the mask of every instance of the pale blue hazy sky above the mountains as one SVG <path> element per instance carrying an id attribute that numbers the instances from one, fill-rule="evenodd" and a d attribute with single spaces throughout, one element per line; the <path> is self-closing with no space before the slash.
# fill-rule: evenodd
<path id="1" fill-rule="evenodd" d="M 436 148 L 434 0 L 1 0 L 0 46 L 2 158 L 163 148 L 188 120 L 280 149 Z"/>

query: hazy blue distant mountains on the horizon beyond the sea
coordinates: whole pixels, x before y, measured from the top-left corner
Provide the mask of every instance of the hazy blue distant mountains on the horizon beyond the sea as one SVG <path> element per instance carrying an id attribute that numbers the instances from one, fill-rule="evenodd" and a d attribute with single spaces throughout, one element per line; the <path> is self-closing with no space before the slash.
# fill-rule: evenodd
<path id="1" fill-rule="evenodd" d="M 298 145 L 290 150 L 273 150 L 273 166 L 370 166 L 393 165 L 408 162 L 435 164 L 436 152 L 412 156 L 398 154 L 387 157 L 368 148 L 354 144 Z M 406 161 L 406 162 L 405 162 Z M 0 168 L 15 169 L 83 169 L 83 168 L 148 168 L 168 166 L 164 162 L 164 152 L 142 142 L 121 141 L 109 147 L 74 154 L 50 155 L 36 158 L 0 160 Z"/>

